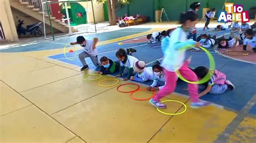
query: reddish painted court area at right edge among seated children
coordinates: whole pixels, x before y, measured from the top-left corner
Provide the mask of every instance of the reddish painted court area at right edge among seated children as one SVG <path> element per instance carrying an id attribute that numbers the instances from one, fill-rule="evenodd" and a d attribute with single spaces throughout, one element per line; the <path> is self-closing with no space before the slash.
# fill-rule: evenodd
<path id="1" fill-rule="evenodd" d="M 239 50 L 239 51 L 243 51 L 242 50 L 242 45 L 239 45 L 236 48 L 228 48 L 228 50 Z M 223 51 L 220 51 L 223 52 Z M 243 61 L 248 61 L 248 62 L 254 62 L 256 63 L 256 53 L 254 53 L 254 51 L 252 50 L 252 48 L 250 46 L 247 46 L 247 51 L 249 53 L 249 55 L 231 55 L 228 53 L 225 53 L 224 55 L 226 56 L 230 56 L 234 59 L 239 59 L 239 60 L 243 60 Z M 234 54 L 244 54 L 244 53 L 240 53 L 240 52 L 232 52 Z"/>

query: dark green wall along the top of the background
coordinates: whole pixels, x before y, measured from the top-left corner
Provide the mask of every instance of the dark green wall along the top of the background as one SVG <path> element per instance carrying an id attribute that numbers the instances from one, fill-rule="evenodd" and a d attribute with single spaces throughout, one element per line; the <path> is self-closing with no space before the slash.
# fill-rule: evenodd
<path id="1" fill-rule="evenodd" d="M 190 4 L 195 0 L 130 0 L 129 5 L 124 5 L 117 11 L 117 16 L 124 16 L 125 13 L 131 15 L 144 15 L 149 17 L 149 21 L 154 21 L 154 11 L 157 9 L 157 3 L 160 2 L 164 6 L 167 16 L 170 20 L 178 20 L 181 12 L 190 9 Z M 198 11 L 198 16 L 201 18 L 203 8 L 206 7 L 207 0 L 196 0 L 201 3 L 201 8 Z M 256 6 L 255 0 L 228 0 L 234 4 L 243 4 L 244 10 L 249 10 L 252 6 Z M 217 9 L 216 15 L 218 16 L 219 10 L 223 8 L 225 0 L 209 0 L 210 8 Z M 163 16 L 163 21 L 166 17 Z"/>

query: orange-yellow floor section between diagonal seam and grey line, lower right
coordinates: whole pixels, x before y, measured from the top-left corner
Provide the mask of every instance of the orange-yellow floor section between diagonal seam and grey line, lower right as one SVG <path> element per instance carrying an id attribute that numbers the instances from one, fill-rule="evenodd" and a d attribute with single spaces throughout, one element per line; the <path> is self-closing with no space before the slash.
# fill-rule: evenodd
<path id="1" fill-rule="evenodd" d="M 214 142 L 237 116 L 214 105 L 199 109 L 191 109 L 190 102 L 186 105 L 187 111 L 174 116 L 150 142 Z"/>

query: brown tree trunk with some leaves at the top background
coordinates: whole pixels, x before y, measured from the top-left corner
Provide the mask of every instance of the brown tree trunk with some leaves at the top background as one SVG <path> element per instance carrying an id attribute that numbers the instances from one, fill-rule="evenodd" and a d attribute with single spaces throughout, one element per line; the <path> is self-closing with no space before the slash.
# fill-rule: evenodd
<path id="1" fill-rule="evenodd" d="M 110 25 L 116 25 L 117 4 L 129 4 L 129 0 L 96 0 L 98 3 L 107 3 L 107 13 L 109 13 Z"/>

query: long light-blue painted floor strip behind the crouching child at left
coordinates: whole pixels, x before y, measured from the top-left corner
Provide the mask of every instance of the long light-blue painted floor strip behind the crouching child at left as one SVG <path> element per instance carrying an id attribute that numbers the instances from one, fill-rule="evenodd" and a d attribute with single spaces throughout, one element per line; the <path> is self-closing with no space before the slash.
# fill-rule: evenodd
<path id="1" fill-rule="evenodd" d="M 105 41 L 105 40 L 111 40 L 116 39 L 120 37 L 124 37 L 127 35 L 142 33 L 145 31 L 149 31 L 151 28 L 125 28 L 122 30 L 117 31 L 111 31 L 111 32 L 104 32 L 104 33 L 96 33 L 91 35 L 84 35 L 85 38 L 95 38 L 97 37 L 99 41 Z M 83 35 L 83 34 L 79 34 Z M 29 51 L 42 51 L 42 50 L 48 50 L 48 49 L 57 49 L 57 48 L 63 48 L 63 44 L 69 44 L 70 42 L 75 42 L 76 37 L 78 35 L 72 35 L 67 36 L 63 38 L 57 38 L 59 40 L 57 41 L 37 41 L 35 44 L 27 45 L 27 46 L 13 46 L 8 49 L 2 49 L 0 52 L 29 52 Z"/>

